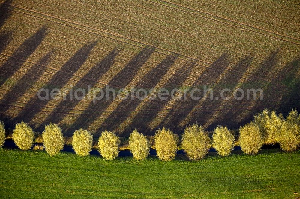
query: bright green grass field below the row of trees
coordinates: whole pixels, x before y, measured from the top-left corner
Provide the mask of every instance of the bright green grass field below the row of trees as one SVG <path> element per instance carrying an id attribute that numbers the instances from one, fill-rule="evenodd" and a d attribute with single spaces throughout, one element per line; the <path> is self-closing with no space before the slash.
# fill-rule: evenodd
<path id="1" fill-rule="evenodd" d="M 300 151 L 256 156 L 210 153 L 199 162 L 156 157 L 113 161 L 0 149 L 1 198 L 296 198 Z"/>

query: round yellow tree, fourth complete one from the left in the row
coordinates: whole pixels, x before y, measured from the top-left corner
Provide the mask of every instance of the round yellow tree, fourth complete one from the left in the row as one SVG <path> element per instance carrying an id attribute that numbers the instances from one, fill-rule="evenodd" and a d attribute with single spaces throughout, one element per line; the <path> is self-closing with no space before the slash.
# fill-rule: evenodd
<path id="1" fill-rule="evenodd" d="M 115 133 L 103 131 L 98 140 L 99 153 L 107 160 L 113 160 L 119 156 L 120 138 Z"/>

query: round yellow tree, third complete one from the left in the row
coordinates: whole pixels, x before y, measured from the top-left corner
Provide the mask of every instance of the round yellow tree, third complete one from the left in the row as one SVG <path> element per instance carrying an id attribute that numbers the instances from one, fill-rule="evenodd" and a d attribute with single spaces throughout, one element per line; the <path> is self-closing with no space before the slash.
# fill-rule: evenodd
<path id="1" fill-rule="evenodd" d="M 87 130 L 80 128 L 73 134 L 72 146 L 76 154 L 89 155 L 93 147 L 93 136 Z"/>

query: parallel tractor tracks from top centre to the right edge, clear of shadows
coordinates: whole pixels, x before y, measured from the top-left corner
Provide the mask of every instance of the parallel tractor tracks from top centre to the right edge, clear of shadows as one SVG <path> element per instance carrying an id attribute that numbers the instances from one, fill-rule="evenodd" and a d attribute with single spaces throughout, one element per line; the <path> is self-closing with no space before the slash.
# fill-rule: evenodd
<path id="1" fill-rule="evenodd" d="M 151 0 L 144 0 L 144 1 L 149 1 L 149 2 L 152 2 L 152 3 L 160 4 L 160 5 L 165 5 L 165 4 L 161 4 L 161 3 L 158 3 L 158 2 L 155 2 L 155 1 L 151 1 Z M 229 21 L 229 22 L 237 23 L 237 24 L 239 24 L 239 25 L 244 25 L 244 26 L 251 27 L 251 28 L 254 28 L 254 29 L 262 30 L 262 31 L 265 31 L 265 32 L 267 32 L 267 33 L 271 33 L 271 34 L 274 34 L 274 35 L 277 35 L 277 36 L 282 36 L 282 37 L 286 37 L 286 38 L 289 38 L 289 39 L 294 39 L 294 40 L 296 40 L 296 41 L 300 41 L 300 39 L 297 39 L 297 38 L 294 38 L 294 37 L 285 36 L 285 35 L 282 35 L 282 34 L 279 34 L 279 33 L 275 33 L 275 32 L 269 31 L 269 30 L 265 30 L 265 29 L 260 28 L 260 27 L 248 25 L 248 24 L 245 24 L 245 23 L 242 23 L 242 22 L 238 22 L 238 21 L 235 21 L 235 20 L 232 20 L 232 19 L 227 19 L 226 17 L 222 17 L 222 16 L 218 16 L 218 15 L 211 14 L 211 13 L 207 13 L 207 12 L 204 12 L 204 11 L 196 10 L 196 9 L 193 9 L 193 8 L 190 8 L 190 7 L 181 5 L 181 4 L 176 4 L 176 3 L 172 3 L 172 2 L 169 2 L 169 1 L 165 1 L 165 0 L 159 0 L 159 1 L 164 2 L 164 3 L 171 4 L 171 5 L 176 5 L 176 6 L 179 6 L 179 7 L 184 7 L 184 8 L 189 9 L 189 10 L 193 10 L 193 11 L 196 11 L 196 12 L 199 12 L 199 13 L 202 13 L 202 14 L 206 14 L 206 15 L 213 16 L 213 17 L 216 17 L 216 18 L 220 18 L 220 19 L 223 19 L 223 20 L 226 20 L 226 21 Z M 167 5 L 166 5 L 166 6 L 167 6 Z M 172 6 L 168 6 L 168 7 L 171 7 L 171 8 L 174 8 L 174 9 L 179 9 L 179 8 L 175 8 L 175 7 L 172 7 Z M 182 9 L 179 9 L 179 10 L 185 11 L 185 10 L 182 10 Z M 189 11 L 187 11 L 187 12 L 189 12 Z M 192 13 L 192 12 L 189 12 L 189 13 Z M 196 13 L 193 13 L 193 14 L 196 14 Z M 202 16 L 202 15 L 199 15 L 199 16 Z M 211 20 L 215 20 L 215 21 L 218 21 L 218 22 L 222 22 L 222 21 L 220 21 L 220 20 L 213 19 L 213 18 L 210 18 L 210 17 L 207 17 L 207 16 L 202 16 L 202 17 L 205 17 L 205 18 L 211 19 Z M 229 24 L 229 23 L 227 23 L 227 22 L 222 22 L 222 23 L 226 23 L 226 24 L 228 24 L 228 25 L 232 25 L 232 24 Z M 242 28 L 242 29 L 245 29 L 245 30 L 253 31 L 253 32 L 256 32 L 256 33 L 259 33 L 259 34 L 263 34 L 263 35 L 265 35 L 265 36 L 274 37 L 274 36 L 271 36 L 271 35 L 267 35 L 267 34 L 265 34 L 265 33 L 260 33 L 260 32 L 258 32 L 258 31 L 250 30 L 250 29 L 247 29 L 247 28 L 244 28 L 244 27 L 240 27 L 240 26 L 237 26 L 237 25 L 233 25 L 233 26 L 238 27 L 238 28 Z M 274 37 L 274 38 L 276 38 L 276 39 L 281 39 L 281 40 L 286 41 L 286 42 L 291 42 L 291 43 L 294 43 L 294 44 L 296 44 L 296 45 L 300 45 L 299 43 L 292 42 L 292 41 L 289 41 L 289 40 L 286 40 L 286 39 L 283 39 L 283 38 L 279 38 L 279 37 Z"/>

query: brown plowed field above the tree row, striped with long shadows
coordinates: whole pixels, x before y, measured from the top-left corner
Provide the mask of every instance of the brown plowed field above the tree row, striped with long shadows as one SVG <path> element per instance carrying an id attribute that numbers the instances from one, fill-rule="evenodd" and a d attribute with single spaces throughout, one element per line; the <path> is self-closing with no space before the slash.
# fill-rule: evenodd
<path id="1" fill-rule="evenodd" d="M 0 0 L 0 115 L 66 135 L 238 128 L 300 109 L 297 1 Z M 262 88 L 263 100 L 39 100 L 40 88 Z"/>

